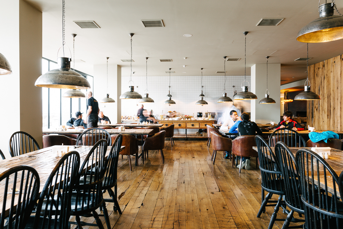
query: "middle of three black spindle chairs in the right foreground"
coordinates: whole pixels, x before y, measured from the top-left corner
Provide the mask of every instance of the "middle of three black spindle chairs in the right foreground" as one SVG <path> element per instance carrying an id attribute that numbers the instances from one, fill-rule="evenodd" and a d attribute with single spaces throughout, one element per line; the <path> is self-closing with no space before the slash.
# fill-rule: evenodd
<path id="1" fill-rule="evenodd" d="M 289 227 L 292 222 L 304 222 L 305 220 L 293 218 L 294 212 L 299 214 L 299 217 L 304 214 L 304 204 L 301 201 L 300 178 L 298 176 L 298 168 L 295 163 L 295 157 L 291 150 L 284 142 L 277 142 L 275 145 L 275 156 L 278 164 L 281 167 L 283 181 L 285 185 L 285 203 L 291 209 L 282 226 L 282 229 Z M 287 210 L 288 211 L 288 210 Z M 304 225 L 293 226 L 290 228 L 303 228 Z"/>

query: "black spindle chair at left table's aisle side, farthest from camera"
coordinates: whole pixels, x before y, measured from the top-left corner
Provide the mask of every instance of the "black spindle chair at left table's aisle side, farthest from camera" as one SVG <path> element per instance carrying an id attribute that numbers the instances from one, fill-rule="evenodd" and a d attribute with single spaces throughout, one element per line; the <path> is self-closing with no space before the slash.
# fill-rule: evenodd
<path id="1" fill-rule="evenodd" d="M 108 194 L 112 197 L 112 199 L 104 199 L 104 202 L 114 203 L 113 210 L 115 212 L 118 210 L 119 214 L 121 214 L 121 210 L 117 200 L 117 167 L 122 141 L 123 135 L 118 134 L 105 161 L 105 178 L 102 186 L 102 189 L 107 190 Z M 113 188 L 114 191 L 112 190 Z"/>

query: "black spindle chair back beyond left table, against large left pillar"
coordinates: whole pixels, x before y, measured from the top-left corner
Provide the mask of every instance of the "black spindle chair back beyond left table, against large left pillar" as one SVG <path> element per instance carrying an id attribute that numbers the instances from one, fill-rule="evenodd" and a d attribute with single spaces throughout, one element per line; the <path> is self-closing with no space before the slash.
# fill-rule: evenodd
<path id="1" fill-rule="evenodd" d="M 28 133 L 18 131 L 12 134 L 8 142 L 11 157 L 26 154 L 40 149 L 37 141 Z"/>

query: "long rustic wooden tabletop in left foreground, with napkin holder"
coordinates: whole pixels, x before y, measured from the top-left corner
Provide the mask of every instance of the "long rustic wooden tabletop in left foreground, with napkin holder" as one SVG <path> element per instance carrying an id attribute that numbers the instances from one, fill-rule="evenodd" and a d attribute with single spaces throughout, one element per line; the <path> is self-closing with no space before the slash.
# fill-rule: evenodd
<path id="1" fill-rule="evenodd" d="M 80 154 L 80 166 L 82 165 L 85 157 L 90 152 L 93 146 L 80 146 L 75 148 L 76 146 L 69 146 L 69 151 L 77 151 Z M 105 159 L 110 153 L 111 146 L 107 147 Z M 120 151 L 125 149 L 125 146 L 121 146 Z M 58 161 L 61 157 L 55 157 L 52 153 L 52 146 L 39 149 L 30 153 L 26 153 L 20 156 L 11 157 L 8 159 L 3 159 L 0 161 L 0 173 L 18 165 L 26 165 L 31 166 L 38 172 L 39 179 L 40 179 L 40 186 L 39 186 L 39 193 L 42 192 L 45 182 L 49 178 L 52 170 L 57 165 Z M 91 166 L 91 165 L 89 165 Z M 4 186 L 0 185 L 0 193 L 4 192 Z M 3 197 L 1 197 L 3 198 Z M 9 212 L 10 203 L 11 203 L 11 195 L 8 195 L 7 198 L 7 205 L 5 212 Z M 8 206 L 8 207 L 7 207 Z M 0 209 L 1 215 L 2 209 Z"/>

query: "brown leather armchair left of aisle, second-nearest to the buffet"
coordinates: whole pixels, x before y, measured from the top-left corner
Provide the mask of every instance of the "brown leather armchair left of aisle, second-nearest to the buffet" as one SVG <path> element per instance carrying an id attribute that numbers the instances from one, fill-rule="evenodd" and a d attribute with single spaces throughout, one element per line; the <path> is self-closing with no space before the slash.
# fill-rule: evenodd
<path id="1" fill-rule="evenodd" d="M 161 152 L 162 157 L 162 163 L 164 163 L 164 155 L 163 155 L 163 149 L 164 149 L 164 138 L 166 136 L 166 131 L 160 131 L 157 134 L 145 138 L 145 142 L 143 144 L 143 164 L 145 159 L 145 153 L 146 157 L 148 158 L 149 150 L 159 150 Z"/>

